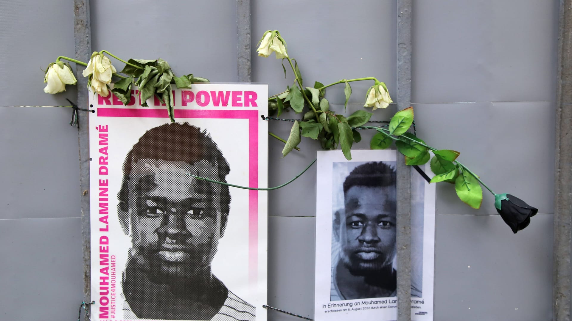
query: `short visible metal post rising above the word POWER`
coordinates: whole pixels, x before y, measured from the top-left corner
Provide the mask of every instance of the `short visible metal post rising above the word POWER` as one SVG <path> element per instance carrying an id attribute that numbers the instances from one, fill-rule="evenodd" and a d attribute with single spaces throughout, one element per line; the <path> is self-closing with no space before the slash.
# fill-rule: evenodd
<path id="1" fill-rule="evenodd" d="M 236 27 L 239 82 L 251 82 L 250 0 L 236 0 Z"/>

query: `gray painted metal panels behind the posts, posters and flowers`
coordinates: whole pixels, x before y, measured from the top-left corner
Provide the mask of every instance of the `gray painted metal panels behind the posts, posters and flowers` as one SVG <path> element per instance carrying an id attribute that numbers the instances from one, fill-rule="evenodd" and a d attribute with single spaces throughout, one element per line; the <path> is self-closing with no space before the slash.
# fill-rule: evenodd
<path id="1" fill-rule="evenodd" d="M 58 55 L 74 55 L 72 3 L 0 1 L 0 67 L 15 75 L 0 79 L 0 106 L 67 105 L 66 97 L 77 97 L 73 87 L 44 94 L 40 70 Z M 541 213 L 513 235 L 488 195 L 475 211 L 450 186 L 438 187 L 435 320 L 550 320 L 558 1 L 414 0 L 413 6 L 419 136 L 459 150 L 493 190 Z M 307 85 L 375 75 L 396 97 L 394 1 L 258 0 L 251 7 L 253 49 L 263 31 L 280 30 Z M 161 57 L 181 73 L 237 81 L 236 1 L 92 0 L 90 9 L 95 50 Z M 175 34 L 180 30 L 188 31 Z M 292 83 L 292 74 L 282 73 L 280 61 L 252 54 L 252 81 L 269 83 L 270 94 Z M 348 113 L 361 108 L 368 86 L 352 86 Z M 327 97 L 343 110 L 343 86 L 328 89 Z M 394 111 L 374 117 L 388 119 Z M 0 320 L 75 319 L 83 299 L 77 130 L 67 125 L 70 116 L 64 108 L 0 107 Z M 281 137 L 289 132 L 285 122 L 269 127 Z M 368 147 L 371 133 L 363 137 L 356 148 Z M 302 151 L 284 159 L 282 147 L 270 139 L 269 186 L 298 174 L 319 144 L 304 139 Z M 269 204 L 268 303 L 312 316 L 315 168 L 269 192 Z"/>

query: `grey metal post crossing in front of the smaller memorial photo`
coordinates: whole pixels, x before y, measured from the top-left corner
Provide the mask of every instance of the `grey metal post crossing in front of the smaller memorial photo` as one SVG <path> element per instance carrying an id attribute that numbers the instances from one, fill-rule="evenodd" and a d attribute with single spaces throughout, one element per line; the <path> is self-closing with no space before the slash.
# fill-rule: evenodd
<path id="1" fill-rule="evenodd" d="M 411 2 L 397 1 L 397 109 L 411 103 Z M 411 168 L 397 162 L 398 321 L 411 320 Z"/>

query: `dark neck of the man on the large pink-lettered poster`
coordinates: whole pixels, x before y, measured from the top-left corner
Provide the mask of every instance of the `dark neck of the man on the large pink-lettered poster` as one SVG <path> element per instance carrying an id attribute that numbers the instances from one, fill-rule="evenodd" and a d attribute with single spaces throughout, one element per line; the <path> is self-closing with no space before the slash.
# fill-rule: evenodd
<path id="1" fill-rule="evenodd" d="M 123 293 L 138 318 L 210 320 L 223 306 L 228 289 L 210 270 L 193 279 L 157 283 L 129 262 Z"/>

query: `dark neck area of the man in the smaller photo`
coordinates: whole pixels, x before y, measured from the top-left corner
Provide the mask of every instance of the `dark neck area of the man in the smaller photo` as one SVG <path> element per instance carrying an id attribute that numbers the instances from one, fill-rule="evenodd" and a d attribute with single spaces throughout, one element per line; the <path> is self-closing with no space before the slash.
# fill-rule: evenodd
<path id="1" fill-rule="evenodd" d="M 347 299 L 387 298 L 395 292 L 396 279 L 391 266 L 372 275 L 353 275 L 343 262 L 336 266 L 336 284 L 341 295 Z"/>

